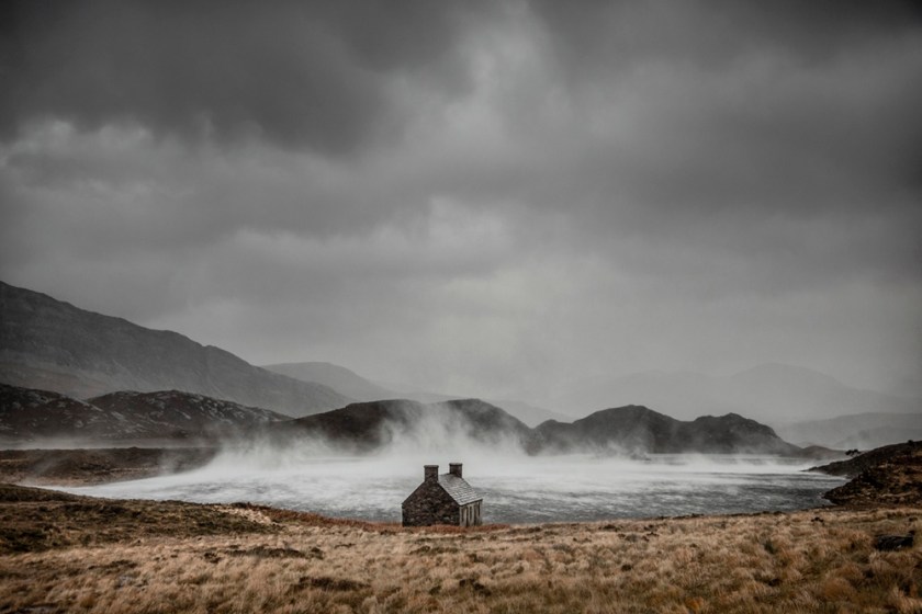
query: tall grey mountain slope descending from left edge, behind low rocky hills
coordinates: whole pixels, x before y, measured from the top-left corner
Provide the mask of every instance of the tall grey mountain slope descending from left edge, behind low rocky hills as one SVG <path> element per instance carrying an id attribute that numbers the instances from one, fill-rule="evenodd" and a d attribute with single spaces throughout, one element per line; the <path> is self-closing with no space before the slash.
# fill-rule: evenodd
<path id="1" fill-rule="evenodd" d="M 0 382 L 87 398 L 183 390 L 290 416 L 352 399 L 254 366 L 179 333 L 74 307 L 0 282 Z"/>

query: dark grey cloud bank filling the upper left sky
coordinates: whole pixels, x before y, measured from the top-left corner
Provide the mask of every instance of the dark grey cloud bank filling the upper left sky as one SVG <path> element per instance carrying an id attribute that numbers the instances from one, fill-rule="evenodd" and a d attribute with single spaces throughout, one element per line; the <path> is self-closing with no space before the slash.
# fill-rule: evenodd
<path id="1" fill-rule="evenodd" d="M 463 91 L 452 50 L 465 12 L 423 1 L 7 3 L 0 128 L 123 121 L 348 154 L 405 121 L 389 79 Z"/>

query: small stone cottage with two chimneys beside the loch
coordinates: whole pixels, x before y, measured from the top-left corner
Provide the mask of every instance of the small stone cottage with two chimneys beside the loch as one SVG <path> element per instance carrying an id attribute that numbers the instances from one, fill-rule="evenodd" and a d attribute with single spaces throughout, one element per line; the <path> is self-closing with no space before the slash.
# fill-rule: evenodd
<path id="1" fill-rule="evenodd" d="M 438 465 L 425 465 L 423 484 L 403 502 L 404 526 L 481 524 L 483 497 L 461 477 L 461 463 L 451 463 L 448 473 L 439 475 Z"/>

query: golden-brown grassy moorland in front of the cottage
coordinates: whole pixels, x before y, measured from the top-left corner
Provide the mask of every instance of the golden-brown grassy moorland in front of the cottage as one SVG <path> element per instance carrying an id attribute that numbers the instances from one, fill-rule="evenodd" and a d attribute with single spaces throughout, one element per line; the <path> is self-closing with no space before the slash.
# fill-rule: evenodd
<path id="1" fill-rule="evenodd" d="M 0 488 L 2 612 L 922 612 L 922 508 L 405 530 Z"/>

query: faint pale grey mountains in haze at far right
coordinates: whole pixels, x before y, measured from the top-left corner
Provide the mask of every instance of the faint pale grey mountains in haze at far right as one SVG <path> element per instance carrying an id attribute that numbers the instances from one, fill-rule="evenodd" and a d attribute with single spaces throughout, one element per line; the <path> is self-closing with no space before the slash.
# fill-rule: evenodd
<path id="1" fill-rule="evenodd" d="M 702 414 L 740 413 L 776 429 L 802 421 L 803 417 L 908 413 L 922 408 L 920 399 L 854 388 L 813 369 L 776 363 L 722 377 L 644 372 L 586 378 L 562 387 L 561 394 L 550 401 L 552 407 L 565 408 L 571 414 L 628 403 L 656 407 L 689 420 Z M 839 440 L 794 441 L 833 445 Z"/>

